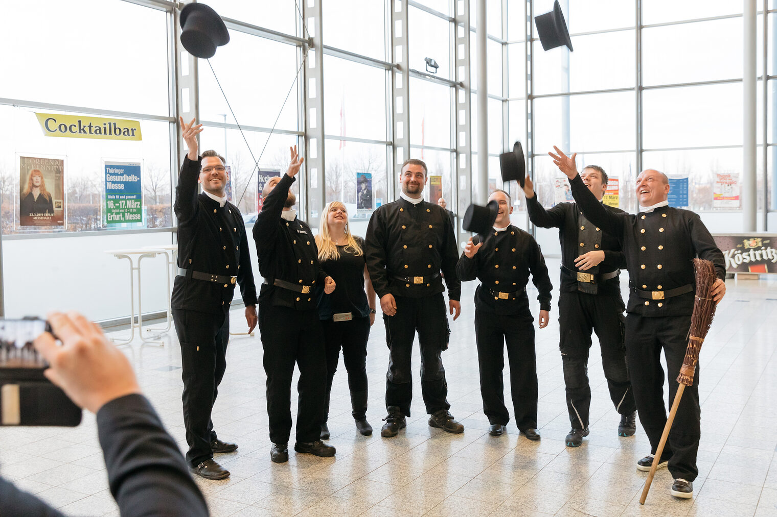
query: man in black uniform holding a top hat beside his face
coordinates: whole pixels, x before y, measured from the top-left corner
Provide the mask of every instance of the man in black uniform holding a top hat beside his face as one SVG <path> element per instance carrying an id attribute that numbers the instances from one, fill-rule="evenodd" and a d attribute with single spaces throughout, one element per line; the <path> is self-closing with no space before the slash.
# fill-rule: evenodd
<path id="1" fill-rule="evenodd" d="M 526 438 L 538 440 L 534 317 L 526 294 L 529 273 L 539 290 L 539 328 L 548 325 L 553 286 L 537 242 L 510 224 L 510 194 L 497 189 L 489 201 L 499 204 L 493 228 L 484 228 L 483 241 L 481 236 L 469 238 L 456 265 L 459 279 L 480 279 L 475 292 L 475 338 L 483 411 L 490 423 L 489 434 L 503 434 L 510 421 L 502 381 L 507 343 L 515 423 Z"/>

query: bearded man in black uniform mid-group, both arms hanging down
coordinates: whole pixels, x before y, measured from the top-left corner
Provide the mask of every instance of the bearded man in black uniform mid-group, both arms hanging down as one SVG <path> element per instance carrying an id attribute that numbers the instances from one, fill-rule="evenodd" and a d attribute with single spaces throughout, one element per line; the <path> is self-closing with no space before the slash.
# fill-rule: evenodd
<path id="1" fill-rule="evenodd" d="M 448 321 L 440 271 L 448 285 L 448 307 L 455 320 L 462 311 L 462 283 L 456 278 L 456 240 L 445 211 L 421 197 L 427 165 L 417 159 L 402 164 L 400 199 L 378 207 L 365 238 L 367 268 L 381 298 L 389 371 L 386 408 L 389 415 L 381 435 L 395 436 L 406 426 L 413 399 L 410 355 L 418 331 L 421 351 L 421 392 L 429 425 L 463 432 L 448 409 L 448 383 L 441 353 L 447 348 Z"/>

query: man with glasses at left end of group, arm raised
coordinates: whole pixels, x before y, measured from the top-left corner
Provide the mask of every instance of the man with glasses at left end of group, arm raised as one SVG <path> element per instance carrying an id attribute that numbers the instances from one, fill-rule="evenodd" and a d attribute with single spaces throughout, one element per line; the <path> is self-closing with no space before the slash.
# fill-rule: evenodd
<path id="1" fill-rule="evenodd" d="M 224 159 L 215 151 L 198 154 L 202 124 L 180 120 L 189 153 L 181 165 L 173 206 L 178 218 L 178 265 L 186 275 L 172 287 L 172 320 L 181 345 L 183 422 L 190 469 L 206 479 L 223 479 L 229 471 L 213 453 L 231 453 L 234 443 L 216 436 L 211 411 L 227 367 L 229 307 L 240 284 L 249 332 L 256 326 L 256 287 L 246 227 L 237 206 L 227 201 Z M 203 192 L 197 194 L 197 183 Z"/>

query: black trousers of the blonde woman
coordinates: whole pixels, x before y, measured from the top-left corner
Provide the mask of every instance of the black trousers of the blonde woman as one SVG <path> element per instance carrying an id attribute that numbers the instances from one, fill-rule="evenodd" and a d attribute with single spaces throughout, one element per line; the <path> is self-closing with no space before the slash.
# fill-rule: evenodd
<path id="1" fill-rule="evenodd" d="M 350 321 L 323 320 L 321 325 L 326 342 L 326 408 L 324 422 L 329 419 L 329 396 L 332 381 L 343 349 L 343 363 L 348 372 L 348 390 L 354 418 L 364 418 L 367 412 L 367 340 L 370 338 L 370 318 L 354 317 Z"/>

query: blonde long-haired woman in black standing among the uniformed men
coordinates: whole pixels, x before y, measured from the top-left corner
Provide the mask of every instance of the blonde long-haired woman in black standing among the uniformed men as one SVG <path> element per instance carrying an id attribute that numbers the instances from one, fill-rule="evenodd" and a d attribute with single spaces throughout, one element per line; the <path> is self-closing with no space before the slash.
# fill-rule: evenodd
<path id="1" fill-rule="evenodd" d="M 348 371 L 350 403 L 356 428 L 364 436 L 372 434 L 367 422 L 367 340 L 375 322 L 375 290 L 364 258 L 364 239 L 348 229 L 348 212 L 340 201 L 324 209 L 315 245 L 319 262 L 337 283 L 331 294 L 319 298 L 319 319 L 326 338 L 326 411 L 321 425 L 321 439 L 329 439 L 329 395 L 332 380 L 343 349 L 343 363 Z"/>

